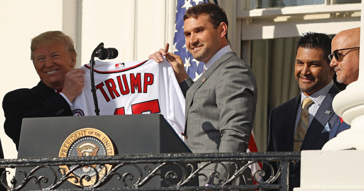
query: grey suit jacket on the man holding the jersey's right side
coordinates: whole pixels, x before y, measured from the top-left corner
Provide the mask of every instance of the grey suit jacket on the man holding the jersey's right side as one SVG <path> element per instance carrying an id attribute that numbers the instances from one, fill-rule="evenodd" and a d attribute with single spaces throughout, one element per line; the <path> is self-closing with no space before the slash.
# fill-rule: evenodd
<path id="1" fill-rule="evenodd" d="M 195 83 L 187 79 L 180 86 L 186 96 L 185 143 L 191 151 L 246 152 L 257 103 L 252 69 L 227 52 Z M 226 173 L 218 170 L 221 182 Z"/>

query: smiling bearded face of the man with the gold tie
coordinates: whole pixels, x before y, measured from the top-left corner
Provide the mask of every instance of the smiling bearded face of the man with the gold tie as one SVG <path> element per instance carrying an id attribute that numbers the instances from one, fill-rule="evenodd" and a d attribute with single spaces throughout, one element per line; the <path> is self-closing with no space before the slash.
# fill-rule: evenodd
<path id="1" fill-rule="evenodd" d="M 299 47 L 294 65 L 294 77 L 306 96 L 317 92 L 332 80 L 335 71 L 320 48 Z"/>

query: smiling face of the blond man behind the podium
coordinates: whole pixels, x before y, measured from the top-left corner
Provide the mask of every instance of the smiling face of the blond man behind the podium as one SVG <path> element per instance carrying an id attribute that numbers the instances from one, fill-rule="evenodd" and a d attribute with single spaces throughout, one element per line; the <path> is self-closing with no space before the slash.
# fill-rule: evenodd
<path id="1" fill-rule="evenodd" d="M 63 43 L 53 43 L 35 49 L 34 66 L 40 80 L 52 89 L 63 89 L 64 76 L 76 64 Z"/>

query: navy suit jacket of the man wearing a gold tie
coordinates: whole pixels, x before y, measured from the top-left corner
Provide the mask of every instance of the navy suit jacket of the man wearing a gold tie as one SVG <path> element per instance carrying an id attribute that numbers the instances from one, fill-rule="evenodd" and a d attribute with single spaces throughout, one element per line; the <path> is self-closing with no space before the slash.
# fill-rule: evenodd
<path id="1" fill-rule="evenodd" d="M 331 130 L 337 128 L 336 122 L 339 116 L 332 109 L 332 99 L 339 92 L 340 90 L 334 84 L 325 96 L 306 132 L 301 150 L 320 150 L 329 140 L 330 131 L 321 133 L 326 124 L 329 123 L 331 125 Z M 301 94 L 272 109 L 269 117 L 267 151 L 293 151 L 294 125 L 300 103 Z M 330 114 L 326 114 L 326 110 L 331 111 Z M 279 164 L 271 164 L 276 173 Z M 293 163 L 290 164 L 289 190 L 293 190 L 294 187 L 300 187 L 300 166 L 300 162 L 297 162 L 294 166 Z M 266 165 L 264 165 L 263 170 L 266 172 L 266 176 L 270 175 L 270 169 Z"/>

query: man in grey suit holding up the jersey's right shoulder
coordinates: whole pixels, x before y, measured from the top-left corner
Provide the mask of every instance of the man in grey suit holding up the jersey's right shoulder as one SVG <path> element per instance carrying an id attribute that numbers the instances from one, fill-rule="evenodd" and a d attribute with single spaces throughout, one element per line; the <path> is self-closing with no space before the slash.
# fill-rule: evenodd
<path id="1" fill-rule="evenodd" d="M 198 4 L 183 16 L 186 47 L 193 57 L 205 63 L 205 72 L 197 81 L 186 73 L 181 57 L 165 49 L 150 55 L 150 59 L 173 66 L 178 83 L 186 96 L 185 143 L 194 153 L 246 152 L 254 122 L 257 85 L 252 69 L 232 52 L 227 40 L 225 11 L 213 3 Z M 200 63 L 201 64 L 201 63 Z M 231 176 L 235 168 L 226 163 L 204 168 L 219 173 L 217 180 L 202 181 L 200 185 L 219 184 Z M 250 171 L 250 170 L 249 170 Z M 246 181 L 252 175 L 245 174 Z M 242 177 L 234 184 L 241 184 Z M 250 182 L 249 182 L 250 183 Z"/>

